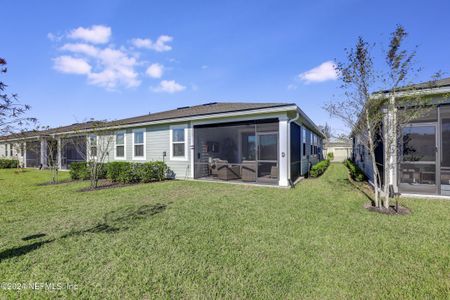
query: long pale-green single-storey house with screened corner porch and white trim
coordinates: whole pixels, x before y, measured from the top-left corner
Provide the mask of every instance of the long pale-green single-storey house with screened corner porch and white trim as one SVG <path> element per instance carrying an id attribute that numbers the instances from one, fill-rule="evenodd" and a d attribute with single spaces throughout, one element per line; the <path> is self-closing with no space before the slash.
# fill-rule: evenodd
<path id="1" fill-rule="evenodd" d="M 97 151 L 92 143 L 109 135 L 114 142 L 107 161 L 165 161 L 179 179 L 279 186 L 289 186 L 322 159 L 323 133 L 292 103 L 213 102 L 98 124 L 3 137 L 0 157 L 45 167 L 44 154 L 53 141 L 59 145 L 58 164 L 67 169 L 85 161 Z M 98 128 L 99 138 L 92 136 Z M 11 145 L 23 151 L 10 152 Z"/>

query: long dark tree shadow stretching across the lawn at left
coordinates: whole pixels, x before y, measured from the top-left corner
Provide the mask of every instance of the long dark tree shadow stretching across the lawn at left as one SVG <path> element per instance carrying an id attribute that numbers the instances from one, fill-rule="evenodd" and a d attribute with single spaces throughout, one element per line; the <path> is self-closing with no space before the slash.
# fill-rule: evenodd
<path id="1" fill-rule="evenodd" d="M 152 217 L 156 214 L 162 213 L 166 210 L 167 204 L 157 203 L 154 205 L 142 205 L 138 208 L 127 208 L 124 210 L 112 211 L 104 215 L 103 220 L 98 222 L 96 225 L 81 229 L 71 231 L 66 233 L 59 238 L 50 239 L 45 241 L 34 242 L 32 244 L 14 247 L 10 249 L 6 249 L 0 252 L 0 262 L 6 259 L 10 259 L 13 257 L 19 257 L 22 255 L 26 255 L 34 250 L 39 249 L 45 244 L 52 243 L 59 239 L 66 239 L 73 236 L 79 236 L 84 234 L 99 234 L 99 233 L 116 233 L 122 230 L 129 229 L 129 226 L 133 225 L 133 222 L 141 219 L 145 219 L 148 217 Z M 38 239 L 46 236 L 45 233 L 37 233 L 26 236 L 22 238 L 23 241 L 29 241 L 33 239 Z"/>

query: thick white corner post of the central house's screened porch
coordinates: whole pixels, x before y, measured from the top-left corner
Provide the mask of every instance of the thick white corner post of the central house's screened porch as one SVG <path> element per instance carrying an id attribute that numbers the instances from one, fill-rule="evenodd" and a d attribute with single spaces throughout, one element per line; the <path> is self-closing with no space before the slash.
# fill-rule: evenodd
<path id="1" fill-rule="evenodd" d="M 289 186 L 288 182 L 288 164 L 289 164 L 289 149 L 288 149 L 288 121 L 289 118 L 287 116 L 281 116 L 278 118 L 278 142 L 280 151 L 278 153 L 278 162 L 279 162 L 279 182 L 280 186 Z"/>

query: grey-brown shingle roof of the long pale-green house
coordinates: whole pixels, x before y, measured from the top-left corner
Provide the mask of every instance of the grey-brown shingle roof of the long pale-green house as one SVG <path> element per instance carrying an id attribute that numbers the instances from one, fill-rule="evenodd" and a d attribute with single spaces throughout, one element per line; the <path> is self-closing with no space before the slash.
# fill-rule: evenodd
<path id="1" fill-rule="evenodd" d="M 132 125 L 147 122 L 156 122 L 164 120 L 176 120 L 180 118 L 189 118 L 195 116 L 206 116 L 228 112 L 241 112 L 248 110 L 258 110 L 266 108 L 276 108 L 284 106 L 293 106 L 295 103 L 239 103 L 239 102 L 211 102 L 202 105 L 185 106 L 177 109 L 162 111 L 153 114 L 147 114 L 138 117 L 114 120 L 114 121 L 89 121 L 84 123 L 75 123 L 68 126 L 50 128 L 40 131 L 29 131 L 14 135 L 0 137 L 0 140 L 11 138 L 27 138 L 40 135 L 57 134 L 64 132 L 83 131 L 98 127 Z"/>

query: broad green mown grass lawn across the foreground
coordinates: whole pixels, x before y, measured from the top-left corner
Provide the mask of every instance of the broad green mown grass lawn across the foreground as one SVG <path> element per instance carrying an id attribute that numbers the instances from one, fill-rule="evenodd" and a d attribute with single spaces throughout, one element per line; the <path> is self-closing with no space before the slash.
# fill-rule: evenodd
<path id="1" fill-rule="evenodd" d="M 64 174 L 66 177 L 68 174 Z M 0 170 L 0 298 L 447 298 L 450 201 L 363 209 L 332 164 L 295 189 L 168 181 L 94 192 Z"/>

